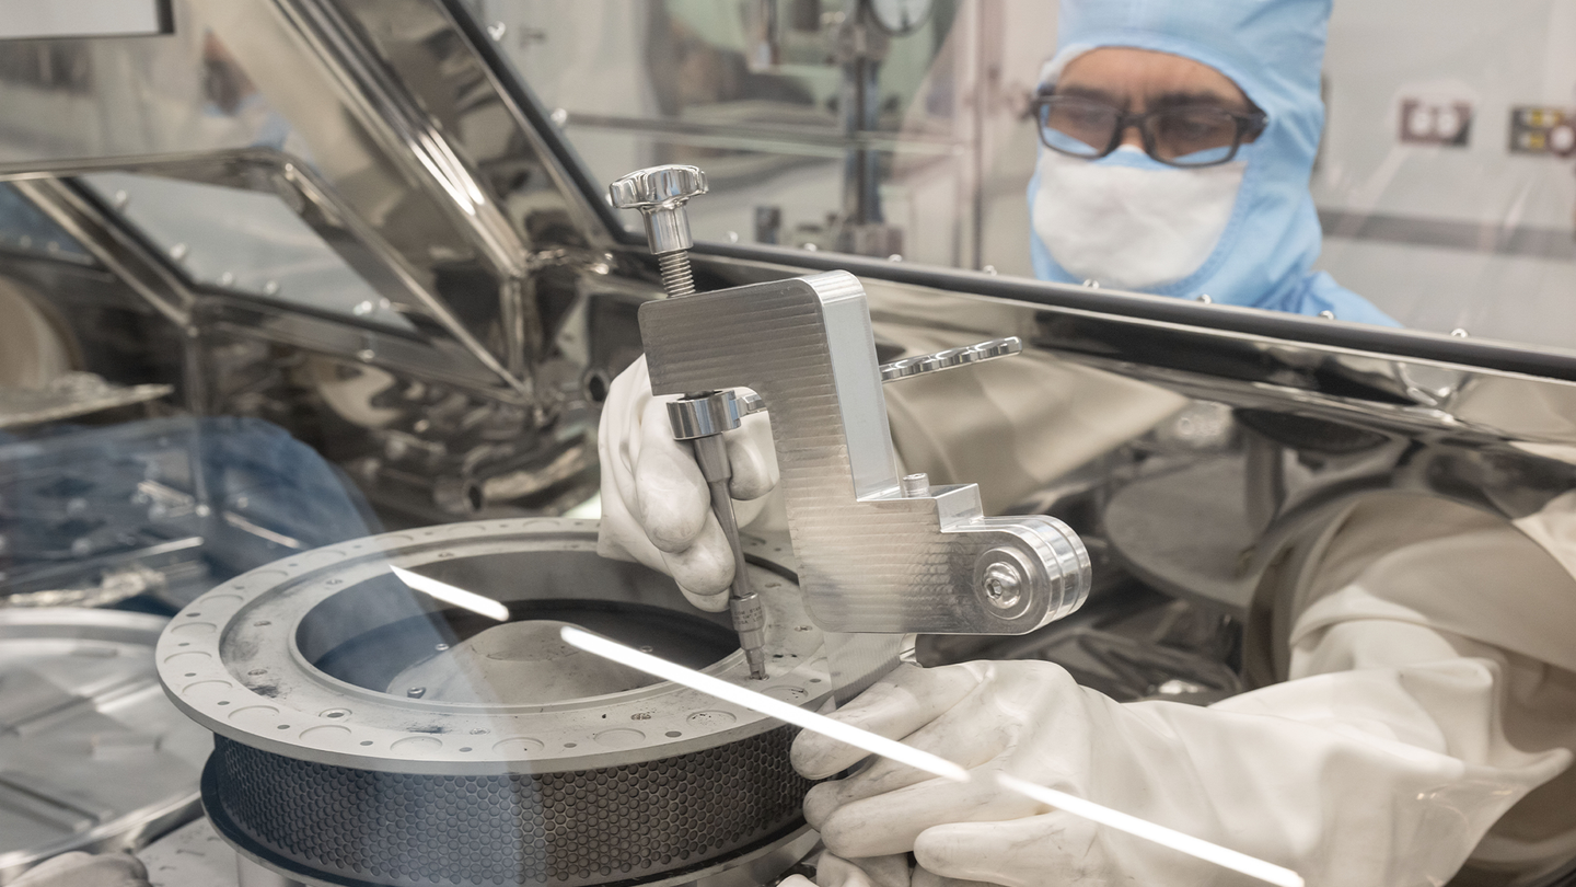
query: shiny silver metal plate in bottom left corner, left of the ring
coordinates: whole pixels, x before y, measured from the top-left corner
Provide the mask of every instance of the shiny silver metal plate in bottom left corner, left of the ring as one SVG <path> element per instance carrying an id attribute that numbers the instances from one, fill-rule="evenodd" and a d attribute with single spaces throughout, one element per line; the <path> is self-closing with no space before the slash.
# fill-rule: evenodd
<path id="1" fill-rule="evenodd" d="M 0 611 L 0 884 L 61 852 L 140 848 L 200 814 L 210 735 L 159 693 L 164 625 Z"/>

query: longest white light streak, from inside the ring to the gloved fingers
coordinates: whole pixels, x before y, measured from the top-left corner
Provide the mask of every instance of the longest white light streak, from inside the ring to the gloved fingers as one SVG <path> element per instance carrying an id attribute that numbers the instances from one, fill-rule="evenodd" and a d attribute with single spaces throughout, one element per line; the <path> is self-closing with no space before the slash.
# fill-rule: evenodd
<path id="1" fill-rule="evenodd" d="M 903 745 L 901 742 L 894 742 L 884 735 L 876 735 L 870 731 L 834 721 L 826 715 L 816 715 L 815 712 L 783 702 L 782 699 L 772 699 L 764 693 L 745 690 L 738 683 L 728 683 L 727 680 L 701 674 L 692 668 L 670 663 L 660 657 L 641 653 L 640 650 L 608 641 L 599 634 L 591 634 L 589 631 L 582 631 L 580 628 L 574 628 L 571 625 L 559 628 L 559 633 L 563 634 L 564 642 L 571 647 L 578 647 L 588 653 L 596 653 L 619 664 L 627 664 L 663 680 L 671 680 L 673 683 L 682 683 L 684 687 L 700 690 L 701 693 L 777 718 L 779 721 L 788 721 L 790 724 L 829 735 L 838 742 L 846 742 L 854 748 L 864 748 L 872 754 L 890 758 L 898 764 L 908 764 L 916 770 L 925 770 L 927 773 L 935 773 L 944 780 L 957 783 L 966 783 L 971 778 L 968 770 L 958 767 L 946 758 L 936 758 L 935 754 L 920 751 L 911 745 Z"/>

